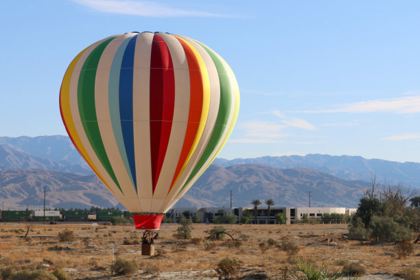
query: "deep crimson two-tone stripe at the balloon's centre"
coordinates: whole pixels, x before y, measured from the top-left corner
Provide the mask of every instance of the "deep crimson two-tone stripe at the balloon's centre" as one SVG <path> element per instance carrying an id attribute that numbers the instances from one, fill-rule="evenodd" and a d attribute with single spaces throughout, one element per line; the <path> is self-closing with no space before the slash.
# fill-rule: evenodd
<path id="1" fill-rule="evenodd" d="M 150 152 L 153 193 L 161 174 L 174 117 L 175 78 L 165 41 L 154 34 L 150 60 Z"/>

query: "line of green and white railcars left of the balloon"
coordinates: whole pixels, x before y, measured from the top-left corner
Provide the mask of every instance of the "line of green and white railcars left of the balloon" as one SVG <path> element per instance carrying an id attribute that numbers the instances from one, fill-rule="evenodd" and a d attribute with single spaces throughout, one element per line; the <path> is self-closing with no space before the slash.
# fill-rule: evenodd
<path id="1" fill-rule="evenodd" d="M 128 211 L 108 211 L 98 210 L 95 213 L 89 211 L 45 211 L 45 220 L 47 221 L 62 221 L 62 222 L 83 222 L 83 221 L 109 221 L 112 218 L 125 217 L 130 218 Z M 5 210 L 0 211 L 1 222 L 27 222 L 27 221 L 43 221 L 43 210 Z"/>

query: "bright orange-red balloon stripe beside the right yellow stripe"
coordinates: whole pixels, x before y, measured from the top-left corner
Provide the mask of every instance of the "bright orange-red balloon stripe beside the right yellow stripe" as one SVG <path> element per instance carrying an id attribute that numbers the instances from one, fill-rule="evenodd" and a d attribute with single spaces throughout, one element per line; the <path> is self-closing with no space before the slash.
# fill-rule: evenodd
<path id="1" fill-rule="evenodd" d="M 202 111 L 202 95 L 203 95 L 203 85 L 202 85 L 202 77 L 200 72 L 200 65 L 198 64 L 198 60 L 194 51 L 181 39 L 177 38 L 183 49 L 185 51 L 185 55 L 187 56 L 188 68 L 189 68 L 189 89 L 190 89 L 190 96 L 189 96 L 189 115 L 188 115 L 188 125 L 187 130 L 185 132 L 185 139 L 183 144 L 183 150 L 181 151 L 178 165 L 176 166 L 176 171 L 174 174 L 174 178 L 172 178 L 172 184 L 167 192 L 170 193 L 174 183 L 176 182 L 176 178 L 183 167 L 185 161 L 187 160 L 187 156 L 191 147 L 194 143 L 194 139 L 196 139 L 196 134 L 198 130 L 198 126 L 200 125 L 200 117 Z"/>

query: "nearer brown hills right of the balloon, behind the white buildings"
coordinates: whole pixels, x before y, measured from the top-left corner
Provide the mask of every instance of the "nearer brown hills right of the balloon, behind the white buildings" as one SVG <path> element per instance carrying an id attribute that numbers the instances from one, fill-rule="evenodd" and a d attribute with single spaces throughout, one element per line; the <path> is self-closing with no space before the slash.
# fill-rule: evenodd
<path id="1" fill-rule="evenodd" d="M 279 169 L 266 165 L 211 165 L 176 206 L 250 206 L 250 201 L 271 198 L 277 206 L 307 206 L 307 191 L 312 191 L 311 206 L 357 208 L 371 184 L 344 180 L 325 172 L 305 168 Z"/>

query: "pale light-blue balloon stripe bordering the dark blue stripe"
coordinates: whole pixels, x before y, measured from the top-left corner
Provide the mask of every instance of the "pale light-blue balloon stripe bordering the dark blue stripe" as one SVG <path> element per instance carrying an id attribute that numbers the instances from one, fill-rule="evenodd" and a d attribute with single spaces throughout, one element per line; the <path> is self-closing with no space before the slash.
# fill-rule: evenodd
<path id="1" fill-rule="evenodd" d="M 134 180 L 130 170 L 130 165 L 127 159 L 126 147 L 124 146 L 124 138 L 121 130 L 121 119 L 119 114 L 119 73 L 121 72 L 121 63 L 124 56 L 124 51 L 128 43 L 130 43 L 132 37 L 124 40 L 123 43 L 118 47 L 115 53 L 113 64 L 111 65 L 109 74 L 109 85 L 108 85 L 108 98 L 109 98 L 109 113 L 111 122 L 113 124 L 114 137 L 118 145 L 119 154 L 126 167 L 127 174 L 130 177 L 132 186 L 136 189 Z"/>

